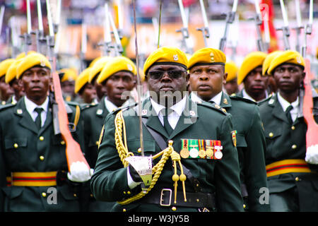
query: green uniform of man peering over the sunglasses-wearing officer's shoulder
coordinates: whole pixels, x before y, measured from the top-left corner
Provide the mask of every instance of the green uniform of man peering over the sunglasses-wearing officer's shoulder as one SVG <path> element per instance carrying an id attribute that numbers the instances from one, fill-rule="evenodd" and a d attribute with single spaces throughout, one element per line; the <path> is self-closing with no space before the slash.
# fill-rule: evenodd
<path id="1" fill-rule="evenodd" d="M 242 97 L 228 96 L 223 92 L 219 95 L 220 100 L 216 103 L 232 114 L 233 129 L 236 131 L 244 208 L 249 211 L 269 211 L 269 203 L 259 202 L 259 198 L 263 194 L 260 189 L 267 188 L 266 143 L 259 107 L 256 102 Z"/>

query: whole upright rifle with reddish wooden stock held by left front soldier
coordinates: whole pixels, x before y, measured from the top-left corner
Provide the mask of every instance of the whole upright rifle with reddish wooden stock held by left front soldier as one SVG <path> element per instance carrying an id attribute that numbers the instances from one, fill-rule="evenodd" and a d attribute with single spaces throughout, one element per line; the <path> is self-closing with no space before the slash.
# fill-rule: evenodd
<path id="1" fill-rule="evenodd" d="M 88 169 L 90 166 L 86 161 L 82 151 L 81 146 L 73 139 L 71 136 L 71 131 L 69 129 L 69 118 L 67 117 L 66 105 L 63 100 L 63 95 L 61 92 L 61 83 L 59 80 L 59 75 L 56 71 L 56 58 L 54 57 L 54 30 L 51 18 L 51 11 L 49 8 L 49 0 L 47 0 L 47 18 L 49 22 L 49 36 L 47 37 L 47 41 L 49 44 L 49 61 L 52 62 L 52 80 L 53 80 L 53 88 L 51 90 L 50 100 L 52 101 L 52 112 L 53 112 L 53 122 L 54 122 L 54 133 L 61 134 L 61 137 L 65 141 L 66 144 L 66 160 L 67 165 L 69 167 L 69 172 L 71 172 L 71 165 L 75 162 L 83 162 Z M 56 30 L 57 32 L 57 30 Z M 53 35 L 52 35 L 53 34 Z M 53 93 L 54 92 L 54 93 Z M 54 99 L 53 99 L 54 95 Z M 76 128 L 73 126 L 72 131 Z"/>

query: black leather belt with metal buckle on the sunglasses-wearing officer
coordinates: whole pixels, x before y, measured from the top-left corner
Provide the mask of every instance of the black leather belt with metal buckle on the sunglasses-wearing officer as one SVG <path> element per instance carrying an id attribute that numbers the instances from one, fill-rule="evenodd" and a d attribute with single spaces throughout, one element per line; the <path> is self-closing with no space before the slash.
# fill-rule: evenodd
<path id="1" fill-rule="evenodd" d="M 191 208 L 216 208 L 216 198 L 209 193 L 186 193 L 187 201 L 184 201 L 184 194 L 182 191 L 177 191 L 177 203 L 175 203 L 174 189 L 156 189 L 146 194 L 140 199 L 141 203 L 152 203 L 160 206 L 182 206 Z"/>

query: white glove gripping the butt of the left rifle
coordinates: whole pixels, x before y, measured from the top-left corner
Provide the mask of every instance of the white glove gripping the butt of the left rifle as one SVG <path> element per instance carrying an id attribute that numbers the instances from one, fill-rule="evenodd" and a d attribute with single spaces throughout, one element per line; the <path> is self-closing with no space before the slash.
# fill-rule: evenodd
<path id="1" fill-rule="evenodd" d="M 67 178 L 72 182 L 87 182 L 92 177 L 94 169 L 90 169 L 84 162 L 73 162 Z"/>

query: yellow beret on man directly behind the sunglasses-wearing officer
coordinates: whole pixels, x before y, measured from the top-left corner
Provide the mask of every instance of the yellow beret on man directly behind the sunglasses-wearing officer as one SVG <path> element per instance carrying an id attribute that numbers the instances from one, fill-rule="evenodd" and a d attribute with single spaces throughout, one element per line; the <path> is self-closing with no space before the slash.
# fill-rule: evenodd
<path id="1" fill-rule="evenodd" d="M 188 69 L 195 64 L 223 64 L 225 65 L 225 54 L 219 49 L 202 48 L 194 52 L 189 59 Z"/>

